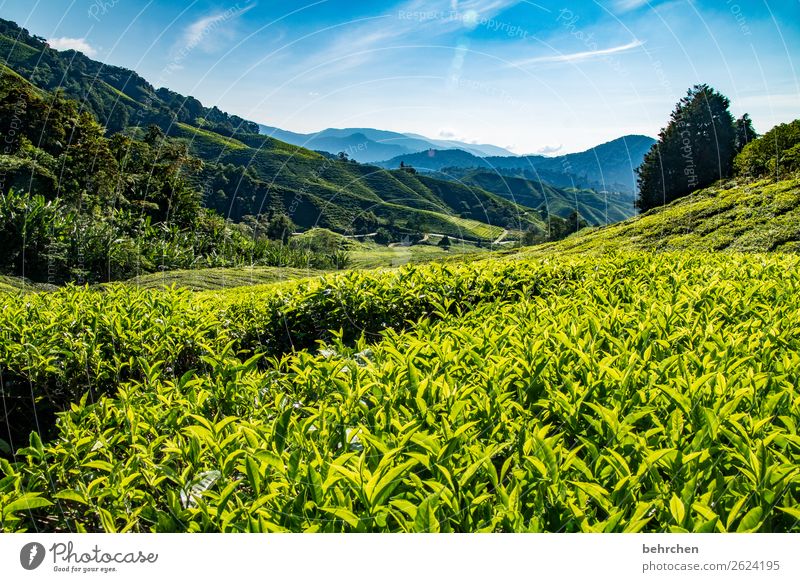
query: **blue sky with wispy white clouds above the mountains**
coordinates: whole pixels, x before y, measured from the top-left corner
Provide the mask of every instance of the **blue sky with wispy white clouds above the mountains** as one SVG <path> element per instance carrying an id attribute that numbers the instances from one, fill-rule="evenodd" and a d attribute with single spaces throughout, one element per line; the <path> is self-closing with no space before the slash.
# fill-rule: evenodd
<path id="1" fill-rule="evenodd" d="M 578 151 L 655 136 L 695 83 L 800 117 L 800 0 L 0 0 L 56 48 L 300 132 Z"/>

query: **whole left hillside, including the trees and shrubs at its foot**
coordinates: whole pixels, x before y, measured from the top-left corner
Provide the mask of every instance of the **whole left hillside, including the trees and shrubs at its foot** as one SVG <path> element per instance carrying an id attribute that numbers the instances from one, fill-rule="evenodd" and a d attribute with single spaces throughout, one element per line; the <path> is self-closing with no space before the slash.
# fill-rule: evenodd
<path id="1" fill-rule="evenodd" d="M 0 265 L 5 274 L 63 283 L 283 266 L 267 241 L 320 227 L 380 231 L 383 244 L 427 233 L 481 244 L 504 231 L 548 237 L 534 209 L 478 186 L 260 135 L 255 123 L 156 89 L 134 71 L 54 50 L 3 19 L 0 50 L 0 133 L 9 136 L 0 155 L 0 238 L 10 246 L 24 239 L 34 263 L 12 256 Z M 37 261 L 55 265 L 52 273 Z"/>

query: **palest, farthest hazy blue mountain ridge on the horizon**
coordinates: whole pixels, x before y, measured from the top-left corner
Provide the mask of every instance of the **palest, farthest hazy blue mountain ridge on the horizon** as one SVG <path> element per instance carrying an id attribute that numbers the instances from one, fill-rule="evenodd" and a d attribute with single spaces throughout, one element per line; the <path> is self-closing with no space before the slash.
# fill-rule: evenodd
<path id="1" fill-rule="evenodd" d="M 398 133 L 369 127 L 328 128 L 314 133 L 296 133 L 260 125 L 262 135 L 310 150 L 331 154 L 345 152 L 361 163 L 374 163 L 396 156 L 429 149 L 460 149 L 474 156 L 510 156 L 505 148 L 489 144 L 469 144 L 456 140 L 431 139 L 413 133 Z"/>

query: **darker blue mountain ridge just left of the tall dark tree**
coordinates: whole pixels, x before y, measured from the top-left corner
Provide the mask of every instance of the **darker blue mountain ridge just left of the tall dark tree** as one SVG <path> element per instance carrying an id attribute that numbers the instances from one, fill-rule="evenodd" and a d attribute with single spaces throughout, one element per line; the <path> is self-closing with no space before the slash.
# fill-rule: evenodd
<path id="1" fill-rule="evenodd" d="M 653 138 L 645 135 L 626 135 L 584 152 L 554 157 L 480 157 L 459 149 L 431 149 L 395 156 L 377 165 L 398 168 L 402 162 L 422 172 L 442 172 L 446 168 L 481 168 L 561 187 L 633 193 L 636 191 L 636 168 L 654 143 Z"/>

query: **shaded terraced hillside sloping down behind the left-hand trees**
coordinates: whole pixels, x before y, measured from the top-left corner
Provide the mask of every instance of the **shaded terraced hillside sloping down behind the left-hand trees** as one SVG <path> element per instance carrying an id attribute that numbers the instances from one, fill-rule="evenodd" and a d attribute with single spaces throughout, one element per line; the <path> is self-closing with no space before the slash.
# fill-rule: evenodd
<path id="1" fill-rule="evenodd" d="M 93 114 L 108 135 L 142 139 L 148 126 L 160 127 L 203 162 L 195 186 L 204 192 L 205 205 L 234 221 L 284 214 L 300 229 L 384 227 L 395 236 L 434 232 L 475 241 L 493 240 L 504 229 L 545 230 L 537 212 L 496 194 L 343 161 L 261 135 L 253 122 L 155 89 L 134 71 L 73 50 L 56 51 L 10 21 L 0 20 L 0 51 L 0 99 L 9 107 L 18 95 L 40 95 L 44 104 L 60 91 Z M 30 170 L 31 164 L 4 161 L 6 187 L 32 183 L 31 172 L 38 170 Z M 45 190 L 46 198 L 54 195 Z"/>

